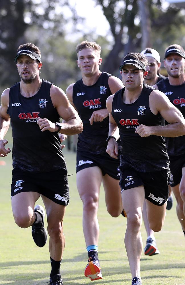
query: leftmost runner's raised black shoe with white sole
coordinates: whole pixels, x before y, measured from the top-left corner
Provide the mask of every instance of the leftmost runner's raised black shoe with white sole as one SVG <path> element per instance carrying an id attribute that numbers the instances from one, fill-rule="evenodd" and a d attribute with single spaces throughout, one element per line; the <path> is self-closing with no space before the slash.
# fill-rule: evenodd
<path id="1" fill-rule="evenodd" d="M 43 247 L 46 244 L 48 238 L 47 231 L 44 228 L 45 211 L 42 206 L 36 205 L 34 212 L 40 213 L 40 215 L 42 216 L 42 224 L 40 226 L 32 225 L 32 237 L 38 247 Z"/>

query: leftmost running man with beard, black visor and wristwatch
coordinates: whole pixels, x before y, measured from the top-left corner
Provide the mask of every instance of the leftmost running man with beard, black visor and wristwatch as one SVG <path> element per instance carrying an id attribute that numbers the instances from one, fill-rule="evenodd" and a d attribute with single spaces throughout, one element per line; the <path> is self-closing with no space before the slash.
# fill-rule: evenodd
<path id="1" fill-rule="evenodd" d="M 20 82 L 1 95 L 0 156 L 11 151 L 4 139 L 10 119 L 13 132 L 12 210 L 16 224 L 32 226 L 34 242 L 47 241 L 45 211 L 35 203 L 41 196 L 46 208 L 52 270 L 50 284 L 63 285 L 60 264 L 65 246 L 63 218 L 69 203 L 67 169 L 58 132 L 78 134 L 83 124 L 65 93 L 42 80 L 40 50 L 34 44 L 18 47 L 17 69 Z M 62 117 L 66 123 L 59 123 Z"/>

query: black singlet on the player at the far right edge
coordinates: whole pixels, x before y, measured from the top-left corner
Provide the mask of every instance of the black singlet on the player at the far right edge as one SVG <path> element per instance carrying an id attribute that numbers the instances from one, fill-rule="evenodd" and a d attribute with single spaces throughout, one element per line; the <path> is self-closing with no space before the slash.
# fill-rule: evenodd
<path id="1" fill-rule="evenodd" d="M 170 85 L 168 78 L 157 83 L 158 89 L 167 95 L 170 102 L 176 106 L 185 117 L 185 83 L 182 85 Z M 168 124 L 168 123 L 167 123 Z M 165 138 L 169 156 L 185 154 L 185 136 Z"/>

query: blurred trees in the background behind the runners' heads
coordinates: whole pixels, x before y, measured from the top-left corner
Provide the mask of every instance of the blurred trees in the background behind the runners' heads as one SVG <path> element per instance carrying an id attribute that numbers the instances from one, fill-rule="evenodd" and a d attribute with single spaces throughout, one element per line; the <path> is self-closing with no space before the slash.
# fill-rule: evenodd
<path id="1" fill-rule="evenodd" d="M 105 37 L 92 32 L 92 23 L 88 34 L 81 30 L 81 38 L 76 38 L 77 23 L 84 22 L 69 0 L 1 0 L 0 86 L 8 87 L 19 81 L 13 60 L 18 46 L 25 42 L 32 42 L 41 50 L 42 78 L 63 89 L 81 76 L 75 52 L 81 40 L 95 40 L 102 46 L 101 70 L 114 75 L 118 75 L 118 66 L 128 52 L 150 46 L 163 56 L 169 44 L 185 45 L 183 8 L 165 6 L 162 0 L 93 1 L 101 7 L 110 25 Z"/>

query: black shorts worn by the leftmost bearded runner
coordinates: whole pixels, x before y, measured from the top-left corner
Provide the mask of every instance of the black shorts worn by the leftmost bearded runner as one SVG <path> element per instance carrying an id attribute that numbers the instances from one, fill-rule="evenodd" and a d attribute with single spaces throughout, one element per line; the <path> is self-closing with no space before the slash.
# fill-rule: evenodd
<path id="1" fill-rule="evenodd" d="M 51 172 L 12 171 L 11 196 L 21 192 L 37 192 L 60 205 L 69 203 L 67 169 Z"/>

